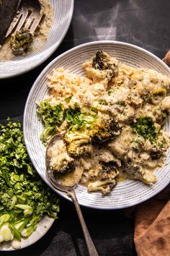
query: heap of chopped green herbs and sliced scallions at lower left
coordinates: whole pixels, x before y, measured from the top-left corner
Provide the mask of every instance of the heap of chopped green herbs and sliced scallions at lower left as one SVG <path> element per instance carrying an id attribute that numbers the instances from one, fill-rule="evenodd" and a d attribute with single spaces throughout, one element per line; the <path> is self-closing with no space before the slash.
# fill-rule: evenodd
<path id="1" fill-rule="evenodd" d="M 58 218 L 59 201 L 32 168 L 21 124 L 0 125 L 0 243 L 19 249 L 43 216 Z"/>

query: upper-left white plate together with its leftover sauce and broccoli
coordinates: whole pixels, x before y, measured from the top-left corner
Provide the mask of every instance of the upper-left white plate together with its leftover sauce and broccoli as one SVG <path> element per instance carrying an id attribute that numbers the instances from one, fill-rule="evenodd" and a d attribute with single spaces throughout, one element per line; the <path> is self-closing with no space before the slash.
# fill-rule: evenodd
<path id="1" fill-rule="evenodd" d="M 14 38 L 12 35 L 15 54 L 10 48 L 11 37 L 6 38 L 0 50 L 0 79 L 15 77 L 39 66 L 53 54 L 66 35 L 73 15 L 73 0 L 40 0 L 40 3 L 45 15 L 35 35 L 30 35 L 27 30 L 19 31 Z M 28 28 L 30 32 L 33 30 L 32 26 Z"/>

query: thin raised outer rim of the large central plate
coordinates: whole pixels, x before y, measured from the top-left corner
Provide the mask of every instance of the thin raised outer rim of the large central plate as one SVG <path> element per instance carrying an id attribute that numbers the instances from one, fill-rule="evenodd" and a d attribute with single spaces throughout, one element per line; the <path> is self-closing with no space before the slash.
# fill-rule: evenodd
<path id="1" fill-rule="evenodd" d="M 27 105 L 28 105 L 27 103 L 28 103 L 28 101 L 30 101 L 30 95 L 32 95 L 32 91 L 34 90 L 35 85 L 37 84 L 37 82 L 40 79 L 40 77 L 43 77 L 44 74 L 48 71 L 48 69 L 50 69 L 50 67 L 53 66 L 53 64 L 56 61 L 58 61 L 58 59 L 61 59 L 63 56 L 66 56 L 67 54 L 70 54 L 72 51 L 75 51 L 75 50 L 77 50 L 79 48 L 84 48 L 84 46 L 95 46 L 97 44 L 113 44 L 113 45 L 117 45 L 118 44 L 120 46 L 130 46 L 132 48 L 137 49 L 138 51 L 142 51 L 143 53 L 148 54 L 149 56 L 153 57 L 153 59 L 156 59 L 156 61 L 158 61 L 158 63 L 161 64 L 161 66 L 163 66 L 170 73 L 170 68 L 164 63 L 164 61 L 159 59 L 156 55 L 152 54 L 150 51 L 148 51 L 148 50 L 146 50 L 144 48 L 141 48 L 140 46 L 135 46 L 132 43 L 125 43 L 125 42 L 117 41 L 117 40 L 94 40 L 94 41 L 91 41 L 91 42 L 88 42 L 88 43 L 82 43 L 81 45 L 75 46 L 75 47 L 69 49 L 68 51 L 65 51 L 63 54 L 60 54 L 55 59 L 50 61 L 50 63 L 44 69 L 42 69 L 42 72 L 40 72 L 40 74 L 38 75 L 37 79 L 35 80 L 35 82 L 32 85 L 32 88 L 30 89 L 30 93 L 27 96 L 27 101 L 26 101 L 25 106 L 24 106 L 23 131 L 24 131 L 24 124 L 25 124 L 25 119 L 26 119 L 26 108 L 27 108 Z M 24 141 L 25 141 L 25 136 L 24 136 Z M 27 148 L 26 142 L 25 142 L 25 145 L 26 145 L 26 148 Z M 32 158 L 31 158 L 31 155 L 29 153 L 29 150 L 27 150 L 27 153 L 30 156 L 30 159 L 32 161 Z M 71 198 L 69 198 L 64 192 L 61 192 L 61 191 L 59 191 L 59 190 L 57 190 L 57 189 L 55 189 L 53 187 L 53 185 L 47 179 L 47 176 L 45 176 L 46 179 L 44 179 L 43 175 L 41 175 L 39 172 L 37 172 L 37 173 L 45 181 L 45 183 L 48 184 L 48 186 L 50 186 L 50 188 L 52 188 L 58 195 L 61 195 L 61 197 L 71 201 Z M 135 181 L 135 182 L 139 182 L 139 181 Z M 142 200 L 140 199 L 140 201 L 138 203 L 131 202 L 131 203 L 127 203 L 126 205 L 123 205 L 123 206 L 117 205 L 116 207 L 114 207 L 114 205 L 113 206 L 107 206 L 107 207 L 98 206 L 98 205 L 87 205 L 84 202 L 80 202 L 80 205 L 82 205 L 82 206 L 84 206 L 86 208 L 94 208 L 94 209 L 99 209 L 99 210 L 119 210 L 119 209 L 123 209 L 123 208 L 129 208 L 129 207 L 134 206 L 134 205 L 139 205 L 141 202 L 145 202 L 146 200 L 154 197 L 155 195 L 157 195 L 159 192 L 161 192 L 169 184 L 170 184 L 170 179 L 169 179 L 168 182 L 166 182 L 164 184 L 164 186 L 159 187 L 158 189 L 156 189 L 156 191 L 154 191 L 151 195 L 148 195 L 148 197 L 145 197 Z M 80 186 L 80 185 L 78 185 L 78 186 Z M 75 189 L 75 192 L 76 192 L 76 189 Z M 79 200 L 79 198 L 78 198 L 78 200 Z"/>

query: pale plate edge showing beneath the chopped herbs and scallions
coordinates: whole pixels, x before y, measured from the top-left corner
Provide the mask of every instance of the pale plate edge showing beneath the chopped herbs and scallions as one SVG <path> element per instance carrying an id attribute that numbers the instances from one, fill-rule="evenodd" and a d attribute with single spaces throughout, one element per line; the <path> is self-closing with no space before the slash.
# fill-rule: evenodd
<path id="1" fill-rule="evenodd" d="M 39 240 L 42 236 L 45 235 L 45 233 L 47 233 L 48 229 L 50 229 L 53 222 L 54 222 L 53 218 L 44 216 L 42 218 L 42 220 L 37 224 L 37 229 L 32 233 L 32 235 L 30 237 L 28 237 L 27 239 L 21 240 L 21 248 L 20 249 L 22 249 L 24 247 L 28 247 L 29 245 L 37 242 L 37 240 Z M 16 250 L 16 249 L 14 249 L 12 247 L 11 242 L 4 242 L 4 243 L 0 244 L 0 251 L 14 251 L 14 250 Z"/>

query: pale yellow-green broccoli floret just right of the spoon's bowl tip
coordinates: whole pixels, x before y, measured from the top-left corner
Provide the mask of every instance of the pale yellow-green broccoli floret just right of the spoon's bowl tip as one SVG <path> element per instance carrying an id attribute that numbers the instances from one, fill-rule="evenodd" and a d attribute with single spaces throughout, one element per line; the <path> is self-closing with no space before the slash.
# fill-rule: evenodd
<path id="1" fill-rule="evenodd" d="M 68 155 L 79 157 L 81 155 L 89 155 L 91 153 L 91 145 L 89 144 L 89 135 L 81 132 L 66 132 L 63 139 L 67 144 Z"/>

